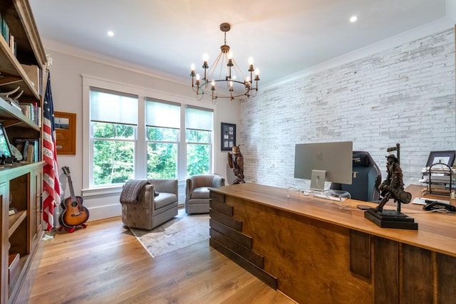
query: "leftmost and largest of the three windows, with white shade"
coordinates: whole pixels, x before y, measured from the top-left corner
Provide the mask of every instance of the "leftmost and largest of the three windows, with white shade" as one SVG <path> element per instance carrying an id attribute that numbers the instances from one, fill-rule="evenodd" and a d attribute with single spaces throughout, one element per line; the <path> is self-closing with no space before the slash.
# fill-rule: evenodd
<path id="1" fill-rule="evenodd" d="M 135 177 L 138 96 L 90 88 L 90 185 L 120 184 Z"/>

